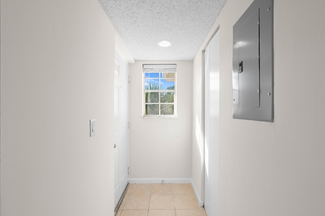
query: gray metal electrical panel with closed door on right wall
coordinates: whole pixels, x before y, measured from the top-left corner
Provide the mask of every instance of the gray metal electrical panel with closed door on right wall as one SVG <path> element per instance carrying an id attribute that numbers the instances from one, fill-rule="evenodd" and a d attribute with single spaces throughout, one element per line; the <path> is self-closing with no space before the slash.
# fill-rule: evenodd
<path id="1" fill-rule="evenodd" d="M 273 122 L 273 0 L 255 0 L 233 39 L 233 118 Z"/>

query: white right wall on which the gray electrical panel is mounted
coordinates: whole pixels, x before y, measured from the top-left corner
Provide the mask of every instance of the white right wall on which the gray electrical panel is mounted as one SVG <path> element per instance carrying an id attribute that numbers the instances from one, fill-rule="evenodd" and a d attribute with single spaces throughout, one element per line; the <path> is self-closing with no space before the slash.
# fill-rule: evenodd
<path id="1" fill-rule="evenodd" d="M 220 26 L 219 215 L 323 215 L 325 2 L 274 1 L 273 123 L 232 118 L 232 27 L 251 2 L 228 0 L 207 36 Z M 201 51 L 193 69 L 194 88 Z M 193 104 L 202 102 L 199 95 Z M 196 105 L 193 117 L 201 112 Z M 202 155 L 197 146 L 194 139 L 193 161 Z M 200 168 L 193 166 L 193 175 Z M 194 184 L 203 183 L 197 177 Z"/>

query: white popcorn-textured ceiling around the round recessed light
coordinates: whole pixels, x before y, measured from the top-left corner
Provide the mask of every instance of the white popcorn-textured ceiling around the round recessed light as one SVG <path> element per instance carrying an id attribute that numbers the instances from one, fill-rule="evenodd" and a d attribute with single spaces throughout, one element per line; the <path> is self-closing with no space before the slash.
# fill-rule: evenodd
<path id="1" fill-rule="evenodd" d="M 99 0 L 135 60 L 192 60 L 226 0 Z M 169 40 L 163 48 L 158 41 Z"/>

